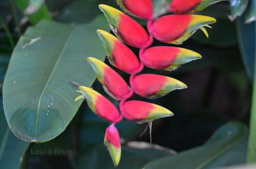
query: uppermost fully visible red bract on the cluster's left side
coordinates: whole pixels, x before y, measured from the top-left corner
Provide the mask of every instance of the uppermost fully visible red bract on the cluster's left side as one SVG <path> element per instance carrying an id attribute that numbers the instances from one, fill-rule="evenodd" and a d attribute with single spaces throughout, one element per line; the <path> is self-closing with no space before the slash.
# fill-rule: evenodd
<path id="1" fill-rule="evenodd" d="M 149 35 L 138 22 L 111 6 L 101 4 L 99 7 L 118 39 L 136 48 L 148 47 Z"/>

